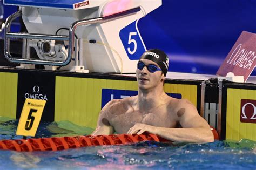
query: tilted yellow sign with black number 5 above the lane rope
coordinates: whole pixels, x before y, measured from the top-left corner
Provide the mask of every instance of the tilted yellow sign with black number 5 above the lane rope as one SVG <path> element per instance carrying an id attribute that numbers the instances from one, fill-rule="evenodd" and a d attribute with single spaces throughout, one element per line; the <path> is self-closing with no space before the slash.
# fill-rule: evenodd
<path id="1" fill-rule="evenodd" d="M 35 137 L 46 100 L 26 99 L 16 131 L 17 135 Z"/>

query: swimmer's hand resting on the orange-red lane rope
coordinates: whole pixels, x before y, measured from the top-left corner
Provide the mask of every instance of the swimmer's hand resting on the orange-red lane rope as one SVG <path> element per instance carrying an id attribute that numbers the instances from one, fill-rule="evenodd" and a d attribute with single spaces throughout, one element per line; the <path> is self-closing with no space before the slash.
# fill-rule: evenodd
<path id="1" fill-rule="evenodd" d="M 150 125 L 135 124 L 133 127 L 130 128 L 127 134 L 142 134 L 144 132 L 156 134 L 155 128 L 156 127 Z"/>

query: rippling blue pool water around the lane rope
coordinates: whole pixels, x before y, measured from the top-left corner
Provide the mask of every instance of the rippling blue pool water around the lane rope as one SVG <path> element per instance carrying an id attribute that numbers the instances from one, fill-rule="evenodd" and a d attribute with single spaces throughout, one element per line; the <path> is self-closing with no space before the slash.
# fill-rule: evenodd
<path id="1" fill-rule="evenodd" d="M 18 122 L 0 119 L 0 139 L 21 139 Z M 65 128 L 64 128 L 65 127 Z M 90 134 L 93 130 L 62 121 L 41 123 L 36 138 Z M 145 141 L 65 151 L 0 151 L 0 169 L 256 169 L 256 142 L 215 141 L 178 144 Z"/>

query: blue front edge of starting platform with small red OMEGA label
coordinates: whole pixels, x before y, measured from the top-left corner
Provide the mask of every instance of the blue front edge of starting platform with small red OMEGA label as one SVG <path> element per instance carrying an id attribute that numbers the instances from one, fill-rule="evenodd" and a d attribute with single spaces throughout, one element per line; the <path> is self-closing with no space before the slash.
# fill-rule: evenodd
<path id="1" fill-rule="evenodd" d="M 89 0 L 4 0 L 4 4 L 43 8 L 76 9 L 83 5 L 89 5 Z"/>

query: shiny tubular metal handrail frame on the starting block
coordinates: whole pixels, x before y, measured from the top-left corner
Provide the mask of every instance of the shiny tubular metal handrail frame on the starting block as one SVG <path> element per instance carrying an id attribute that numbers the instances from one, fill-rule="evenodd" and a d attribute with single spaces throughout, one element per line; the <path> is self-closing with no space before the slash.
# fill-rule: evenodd
<path id="1" fill-rule="evenodd" d="M 73 46 L 74 46 L 74 35 L 75 30 L 78 26 L 96 24 L 96 23 L 104 23 L 109 22 L 114 19 L 130 15 L 132 13 L 140 11 L 140 7 L 133 8 L 130 10 L 126 10 L 123 12 L 115 13 L 113 15 L 105 16 L 105 17 L 97 17 L 97 18 L 89 18 L 78 20 L 74 22 L 69 29 L 69 36 L 57 36 L 57 35 L 43 35 L 43 34 L 32 34 L 32 33 L 11 33 L 10 26 L 11 22 L 14 21 L 17 17 L 22 15 L 22 11 L 19 10 L 14 14 L 10 15 L 5 22 L 5 31 L 4 31 L 4 55 L 9 62 L 12 63 L 24 63 L 24 64 L 41 64 L 41 65 L 55 65 L 55 66 L 65 66 L 71 62 L 73 55 Z M 68 57 L 64 61 L 60 60 L 42 60 L 42 59 L 31 59 L 31 58 L 15 58 L 10 54 L 10 38 L 31 38 L 31 39 L 55 39 L 55 40 L 68 40 L 69 41 L 69 49 L 68 49 Z"/>

